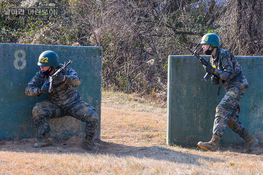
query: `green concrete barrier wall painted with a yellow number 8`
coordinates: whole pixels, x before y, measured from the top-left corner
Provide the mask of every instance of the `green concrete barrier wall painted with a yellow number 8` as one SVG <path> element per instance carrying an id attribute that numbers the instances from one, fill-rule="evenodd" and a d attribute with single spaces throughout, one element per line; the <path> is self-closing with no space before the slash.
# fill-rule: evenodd
<path id="1" fill-rule="evenodd" d="M 101 120 L 101 47 L 0 44 L 0 138 L 39 137 L 32 119 L 32 108 L 35 103 L 47 99 L 47 95 L 28 97 L 25 88 L 40 70 L 37 61 L 46 50 L 56 52 L 62 64 L 72 60 L 69 66 L 82 79 L 77 87 L 82 101 L 95 107 Z M 84 136 L 85 123 L 73 117 L 48 121 L 54 136 Z M 96 136 L 100 136 L 100 127 Z"/>

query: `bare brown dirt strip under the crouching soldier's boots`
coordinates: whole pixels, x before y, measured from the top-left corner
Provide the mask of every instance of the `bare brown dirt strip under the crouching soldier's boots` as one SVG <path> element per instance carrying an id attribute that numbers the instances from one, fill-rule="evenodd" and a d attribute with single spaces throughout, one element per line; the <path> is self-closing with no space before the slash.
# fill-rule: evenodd
<path id="1" fill-rule="evenodd" d="M 0 150 L 13 152 L 61 152 L 61 153 L 86 153 L 96 152 L 89 151 L 82 145 L 82 138 L 72 136 L 67 139 L 54 139 L 53 145 L 44 148 L 35 148 L 34 143 L 41 141 L 41 139 L 0 139 Z M 142 149 L 144 146 L 137 145 L 121 145 L 112 142 L 105 142 L 95 139 L 95 145 L 99 147 L 97 153 L 106 153 L 113 155 L 126 155 L 130 152 Z"/>

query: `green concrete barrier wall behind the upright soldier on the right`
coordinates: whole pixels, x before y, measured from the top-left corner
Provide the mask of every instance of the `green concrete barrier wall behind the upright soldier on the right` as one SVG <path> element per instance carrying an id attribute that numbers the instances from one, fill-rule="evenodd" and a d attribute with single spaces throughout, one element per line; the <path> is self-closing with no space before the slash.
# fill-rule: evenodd
<path id="1" fill-rule="evenodd" d="M 206 60 L 210 56 L 203 56 Z M 241 100 L 239 120 L 263 141 L 263 57 L 236 56 L 249 89 Z M 167 144 L 195 145 L 210 141 L 216 106 L 225 94 L 224 87 L 217 96 L 218 85 L 204 80 L 205 71 L 192 55 L 169 56 L 167 94 Z M 243 139 L 228 126 L 222 139 L 240 142 Z"/>

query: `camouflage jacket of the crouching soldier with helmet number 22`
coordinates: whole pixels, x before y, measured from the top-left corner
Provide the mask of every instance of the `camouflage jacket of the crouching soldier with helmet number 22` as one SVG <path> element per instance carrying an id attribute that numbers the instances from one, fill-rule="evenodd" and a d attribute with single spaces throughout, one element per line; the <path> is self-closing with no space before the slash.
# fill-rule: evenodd
<path id="1" fill-rule="evenodd" d="M 60 64 L 56 69 L 62 68 L 62 64 Z M 77 101 L 80 101 L 80 95 L 75 87 L 79 86 L 81 83 L 80 77 L 77 75 L 75 70 L 71 67 L 67 66 L 62 74 L 66 76 L 65 83 L 63 82 L 55 82 L 53 83 L 53 89 L 50 93 L 47 93 L 50 101 L 55 103 L 56 105 L 66 105 L 69 106 Z M 35 96 L 39 95 L 38 89 L 45 83 L 46 80 L 49 79 L 50 75 L 44 75 L 41 70 L 36 73 L 36 75 L 32 78 L 32 80 L 28 83 L 26 87 L 26 95 L 27 96 Z"/>

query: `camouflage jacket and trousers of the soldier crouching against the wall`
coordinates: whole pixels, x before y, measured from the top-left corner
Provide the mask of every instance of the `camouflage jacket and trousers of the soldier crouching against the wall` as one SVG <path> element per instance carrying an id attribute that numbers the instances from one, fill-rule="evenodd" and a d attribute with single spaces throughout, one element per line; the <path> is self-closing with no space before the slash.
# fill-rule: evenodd
<path id="1" fill-rule="evenodd" d="M 56 69 L 62 68 L 60 64 Z M 76 87 L 80 85 L 81 79 L 77 73 L 66 67 L 62 71 L 66 76 L 65 83 L 53 83 L 53 89 L 47 93 L 49 100 L 36 103 L 32 115 L 39 134 L 50 131 L 47 118 L 59 118 L 63 116 L 72 116 L 82 122 L 86 122 L 85 134 L 93 136 L 99 126 L 98 114 L 95 108 L 81 101 L 80 95 Z M 38 89 L 49 79 L 49 75 L 44 75 L 41 70 L 36 73 L 26 87 L 27 96 L 40 95 Z"/>

